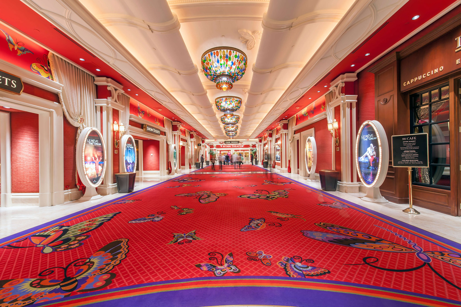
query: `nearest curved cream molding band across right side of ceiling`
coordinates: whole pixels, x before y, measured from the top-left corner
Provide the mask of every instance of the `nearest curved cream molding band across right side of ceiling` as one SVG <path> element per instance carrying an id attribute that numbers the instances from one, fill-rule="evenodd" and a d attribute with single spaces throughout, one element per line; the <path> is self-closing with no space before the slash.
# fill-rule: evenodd
<path id="1" fill-rule="evenodd" d="M 343 18 L 345 12 L 341 10 L 320 10 L 314 11 L 290 20 L 274 20 L 267 17 L 267 12 L 264 13 L 262 19 L 262 27 L 264 30 L 272 30 L 276 32 L 290 31 L 292 29 L 319 22 L 338 23 Z"/>

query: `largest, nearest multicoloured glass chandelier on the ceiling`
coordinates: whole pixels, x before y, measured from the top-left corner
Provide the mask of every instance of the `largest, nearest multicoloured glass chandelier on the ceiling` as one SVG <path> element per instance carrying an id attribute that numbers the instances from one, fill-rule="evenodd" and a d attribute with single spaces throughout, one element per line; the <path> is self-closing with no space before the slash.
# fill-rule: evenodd
<path id="1" fill-rule="evenodd" d="M 223 91 L 232 89 L 247 69 L 246 54 L 231 47 L 211 48 L 203 53 L 201 62 L 205 76 Z"/>

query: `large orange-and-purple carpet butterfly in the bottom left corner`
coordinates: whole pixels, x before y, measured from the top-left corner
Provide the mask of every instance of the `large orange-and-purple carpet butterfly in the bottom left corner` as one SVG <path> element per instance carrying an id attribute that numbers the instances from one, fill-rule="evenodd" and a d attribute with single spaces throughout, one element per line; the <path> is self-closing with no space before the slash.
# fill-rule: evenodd
<path id="1" fill-rule="evenodd" d="M 38 274 L 39 277 L 52 275 L 52 279 L 0 280 L 0 293 L 9 294 L 0 295 L 0 306 L 25 306 L 103 289 L 116 277 L 116 274 L 109 271 L 117 266 L 127 253 L 128 239 L 118 239 L 100 248 L 88 258 L 73 260 L 67 266 L 54 266 Z"/>

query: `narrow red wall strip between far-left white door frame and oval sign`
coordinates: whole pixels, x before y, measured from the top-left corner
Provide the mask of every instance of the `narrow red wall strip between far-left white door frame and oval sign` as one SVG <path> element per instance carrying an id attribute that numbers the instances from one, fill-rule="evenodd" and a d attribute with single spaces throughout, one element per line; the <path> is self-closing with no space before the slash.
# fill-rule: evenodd
<path id="1" fill-rule="evenodd" d="M 69 189 L 77 188 L 75 182 L 75 152 L 77 142 L 77 131 L 78 127 L 74 127 L 69 123 L 67 118 L 63 119 L 64 126 L 64 189 L 69 186 Z"/>

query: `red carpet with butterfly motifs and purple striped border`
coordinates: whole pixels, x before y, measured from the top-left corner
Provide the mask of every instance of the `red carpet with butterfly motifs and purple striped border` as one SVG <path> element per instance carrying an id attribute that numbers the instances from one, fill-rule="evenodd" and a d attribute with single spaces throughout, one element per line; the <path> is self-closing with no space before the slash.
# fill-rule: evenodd
<path id="1" fill-rule="evenodd" d="M 460 244 L 273 173 L 186 174 L 0 247 L 0 307 L 461 306 Z"/>

